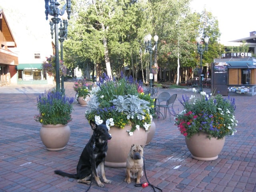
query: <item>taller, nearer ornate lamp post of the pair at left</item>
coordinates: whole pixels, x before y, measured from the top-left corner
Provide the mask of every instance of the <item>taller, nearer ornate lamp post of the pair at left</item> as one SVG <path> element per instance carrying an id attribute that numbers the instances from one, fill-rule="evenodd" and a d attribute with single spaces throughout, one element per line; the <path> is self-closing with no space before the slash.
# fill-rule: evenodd
<path id="1" fill-rule="evenodd" d="M 50 26 L 51 26 L 51 34 L 52 34 L 52 38 L 53 38 L 53 24 L 54 24 L 56 90 L 60 91 L 60 59 L 59 59 L 59 44 L 58 44 L 58 23 L 60 22 L 61 19 L 58 16 L 64 15 L 65 10 L 66 10 L 66 12 L 68 14 L 68 19 L 70 19 L 71 2 L 70 2 L 70 0 L 67 0 L 67 3 L 63 6 L 62 10 L 60 10 L 58 8 L 60 6 L 60 3 L 57 2 L 57 0 L 44 0 L 44 2 L 45 2 L 46 20 L 48 20 L 48 15 L 53 16 L 50 21 Z"/>

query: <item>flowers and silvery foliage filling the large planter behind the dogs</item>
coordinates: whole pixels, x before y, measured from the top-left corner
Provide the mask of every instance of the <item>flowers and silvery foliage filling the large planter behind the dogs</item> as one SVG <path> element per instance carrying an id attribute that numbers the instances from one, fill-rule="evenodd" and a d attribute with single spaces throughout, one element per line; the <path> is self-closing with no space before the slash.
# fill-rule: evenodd
<path id="1" fill-rule="evenodd" d="M 100 78 L 97 87 L 92 88 L 88 110 L 85 112 L 88 121 L 94 120 L 101 124 L 106 120 L 108 129 L 111 126 L 122 129 L 130 124 L 131 129 L 127 130 L 130 136 L 136 129 L 143 128 L 148 131 L 152 114 L 154 102 L 150 95 L 139 94 L 137 82 L 122 74 L 119 80 L 111 80 L 106 74 L 104 78 Z"/>

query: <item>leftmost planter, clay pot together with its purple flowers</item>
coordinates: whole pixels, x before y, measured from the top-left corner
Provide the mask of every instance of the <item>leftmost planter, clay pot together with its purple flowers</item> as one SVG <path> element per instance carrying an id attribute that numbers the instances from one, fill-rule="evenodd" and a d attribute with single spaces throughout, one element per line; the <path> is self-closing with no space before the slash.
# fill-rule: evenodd
<path id="1" fill-rule="evenodd" d="M 70 138 L 68 122 L 72 120 L 73 98 L 62 92 L 44 92 L 37 98 L 39 115 L 34 119 L 42 124 L 40 138 L 47 150 L 63 150 Z"/>

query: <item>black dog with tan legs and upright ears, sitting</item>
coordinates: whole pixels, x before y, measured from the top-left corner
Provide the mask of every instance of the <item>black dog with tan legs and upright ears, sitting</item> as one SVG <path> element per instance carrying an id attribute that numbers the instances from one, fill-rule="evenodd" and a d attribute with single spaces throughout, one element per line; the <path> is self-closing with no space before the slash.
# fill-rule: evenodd
<path id="1" fill-rule="evenodd" d="M 84 147 L 84 150 L 79 158 L 76 167 L 76 174 L 66 173 L 61 170 L 55 170 L 54 172 L 61 176 L 76 178 L 78 179 L 78 182 L 86 184 L 90 184 L 90 179 L 92 179 L 91 173 L 93 172 L 98 186 L 104 187 L 104 184 L 100 182 L 97 168 L 99 166 L 103 182 L 111 183 L 111 181 L 107 180 L 105 176 L 104 168 L 105 157 L 108 150 L 108 140 L 111 139 L 111 136 L 108 133 L 108 128 L 106 127 L 105 121 L 102 124 L 97 125 L 91 120 L 90 125 L 92 127 L 93 134 L 89 142 Z"/>

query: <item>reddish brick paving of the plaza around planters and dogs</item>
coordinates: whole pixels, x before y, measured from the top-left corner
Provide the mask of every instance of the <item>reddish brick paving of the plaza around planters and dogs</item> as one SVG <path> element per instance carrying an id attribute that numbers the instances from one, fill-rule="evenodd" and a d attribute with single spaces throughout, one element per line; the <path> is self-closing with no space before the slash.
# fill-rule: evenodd
<path id="1" fill-rule="evenodd" d="M 75 96 L 73 82 L 65 82 L 67 96 Z M 64 150 L 48 151 L 40 140 L 36 98 L 45 87 L 19 85 L 0 87 L 0 192 L 84 192 L 88 185 L 54 174 L 54 170 L 76 172 L 79 156 L 89 140 L 90 125 L 84 117 L 86 107 L 74 104 L 70 140 Z M 210 92 L 209 89 L 204 89 Z M 190 96 L 189 89 L 161 89 L 177 93 L 176 111 L 182 110 L 178 99 Z M 146 175 L 163 192 L 253 192 L 256 191 L 256 118 L 255 96 L 236 99 L 237 133 L 226 137 L 219 158 L 213 161 L 192 159 L 184 136 L 170 118 L 156 124 L 156 134 L 144 148 Z M 106 167 L 112 180 L 100 188 L 94 181 L 91 192 L 153 192 L 124 182 L 125 168 Z M 146 182 L 145 176 L 141 182 Z M 156 190 L 158 191 L 158 190 Z"/>

